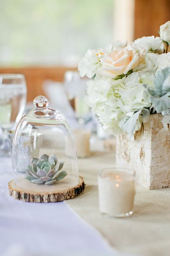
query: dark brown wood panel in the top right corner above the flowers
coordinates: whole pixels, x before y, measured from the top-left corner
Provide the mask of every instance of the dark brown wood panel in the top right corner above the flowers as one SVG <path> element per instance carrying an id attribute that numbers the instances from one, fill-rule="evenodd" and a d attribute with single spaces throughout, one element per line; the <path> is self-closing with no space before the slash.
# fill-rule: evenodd
<path id="1" fill-rule="evenodd" d="M 159 36 L 160 25 L 170 20 L 170 0 L 135 0 L 134 38 Z"/>

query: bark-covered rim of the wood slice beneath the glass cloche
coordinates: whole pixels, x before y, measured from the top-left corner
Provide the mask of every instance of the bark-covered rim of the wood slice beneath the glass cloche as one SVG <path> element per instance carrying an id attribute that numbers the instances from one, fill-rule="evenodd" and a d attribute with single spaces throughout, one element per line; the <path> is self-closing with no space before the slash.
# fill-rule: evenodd
<path id="1" fill-rule="evenodd" d="M 24 179 L 26 180 L 26 179 Z M 30 182 L 30 181 L 29 181 Z M 48 185 L 45 185 L 46 187 Z M 48 186 L 50 187 L 50 185 Z M 56 186 L 57 188 L 57 186 Z M 9 195 L 14 199 L 24 201 L 24 202 L 33 202 L 33 203 L 49 203 L 49 202 L 59 202 L 67 199 L 74 198 L 78 195 L 81 195 L 85 189 L 85 183 L 81 176 L 79 176 L 79 184 L 73 186 L 70 189 L 63 190 L 53 190 L 51 192 L 44 191 L 43 187 L 40 185 L 39 189 L 35 192 L 29 191 L 30 189 L 17 186 L 14 180 L 11 180 L 8 183 Z M 41 191 L 42 190 L 42 191 Z"/>

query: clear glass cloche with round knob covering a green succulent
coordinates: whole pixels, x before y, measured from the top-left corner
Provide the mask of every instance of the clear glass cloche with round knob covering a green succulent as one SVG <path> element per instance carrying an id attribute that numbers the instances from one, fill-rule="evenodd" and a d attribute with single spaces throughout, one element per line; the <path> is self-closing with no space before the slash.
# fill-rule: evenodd
<path id="1" fill-rule="evenodd" d="M 44 96 L 37 96 L 34 106 L 22 117 L 14 134 L 15 186 L 29 193 L 71 189 L 79 184 L 71 128 L 60 112 L 47 108 Z"/>

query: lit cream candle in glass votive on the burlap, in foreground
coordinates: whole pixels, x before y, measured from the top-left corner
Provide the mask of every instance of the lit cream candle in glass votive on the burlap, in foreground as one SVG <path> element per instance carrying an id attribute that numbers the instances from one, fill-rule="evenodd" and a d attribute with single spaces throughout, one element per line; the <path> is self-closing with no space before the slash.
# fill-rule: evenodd
<path id="1" fill-rule="evenodd" d="M 131 169 L 102 169 L 98 176 L 99 210 L 108 217 L 133 214 L 135 172 Z"/>

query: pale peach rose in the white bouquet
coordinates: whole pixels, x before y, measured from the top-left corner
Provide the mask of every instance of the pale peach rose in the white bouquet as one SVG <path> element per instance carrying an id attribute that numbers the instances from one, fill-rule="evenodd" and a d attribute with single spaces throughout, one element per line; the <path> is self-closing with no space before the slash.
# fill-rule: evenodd
<path id="1" fill-rule="evenodd" d="M 134 49 L 115 48 L 108 55 L 101 58 L 99 61 L 102 67 L 97 71 L 101 76 L 116 76 L 127 74 L 129 70 L 138 66 L 144 50 L 136 52 Z"/>

